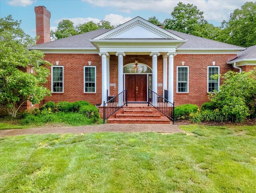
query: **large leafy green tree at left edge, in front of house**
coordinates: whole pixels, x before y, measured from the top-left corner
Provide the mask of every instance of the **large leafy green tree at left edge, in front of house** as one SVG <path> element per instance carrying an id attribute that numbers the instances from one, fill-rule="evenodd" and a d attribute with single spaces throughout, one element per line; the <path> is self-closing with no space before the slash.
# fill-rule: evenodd
<path id="1" fill-rule="evenodd" d="M 20 24 L 10 15 L 0 18 L 0 104 L 12 117 L 27 100 L 35 104 L 50 96 L 44 87 L 50 73 L 42 66 L 50 63 L 43 60 L 41 51 L 27 49 L 36 39 L 25 34 Z M 35 73 L 27 73 L 29 66 Z"/>

